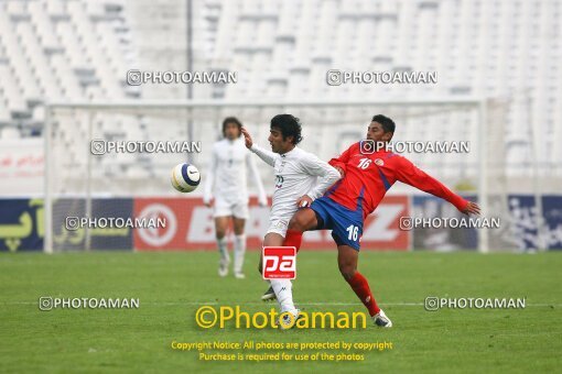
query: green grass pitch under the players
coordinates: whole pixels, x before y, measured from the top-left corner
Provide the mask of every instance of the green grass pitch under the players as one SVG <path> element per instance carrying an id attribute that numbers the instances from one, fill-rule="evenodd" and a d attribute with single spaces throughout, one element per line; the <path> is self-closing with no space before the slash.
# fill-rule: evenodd
<path id="1" fill-rule="evenodd" d="M 198 306 L 269 311 L 246 260 L 246 279 L 217 276 L 217 254 L 0 255 L 0 372 L 354 373 L 559 372 L 562 253 L 536 255 L 363 252 L 359 271 L 395 327 L 357 330 L 198 328 Z M 363 311 L 335 251 L 299 255 L 295 301 L 306 311 Z M 139 298 L 139 309 L 40 311 L 40 296 Z M 526 297 L 526 309 L 425 311 L 428 296 Z M 369 321 L 370 322 L 370 321 Z M 172 341 L 392 342 L 358 362 L 202 362 Z M 268 351 L 275 352 L 275 351 Z M 316 352 L 316 351 L 310 351 Z M 263 353 L 263 352 L 261 352 Z"/>

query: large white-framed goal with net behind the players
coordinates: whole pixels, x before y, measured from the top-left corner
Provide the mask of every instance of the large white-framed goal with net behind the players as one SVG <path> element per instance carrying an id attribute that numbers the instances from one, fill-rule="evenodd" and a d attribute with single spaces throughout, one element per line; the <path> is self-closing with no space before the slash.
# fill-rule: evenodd
<path id="1" fill-rule="evenodd" d="M 515 248 L 516 243 L 506 240 L 505 234 L 511 232 L 504 142 L 507 107 L 505 102 L 454 99 L 51 105 L 45 131 L 45 251 L 212 248 L 209 210 L 204 210 L 201 204 L 204 188 L 182 195 L 171 187 L 170 172 L 179 163 L 193 163 L 199 168 L 204 185 L 212 144 L 221 136 L 224 118 L 237 117 L 258 144 L 269 146 L 269 122 L 279 113 L 301 119 L 300 146 L 325 161 L 364 139 L 374 114 L 390 117 L 397 123 L 396 151 L 454 191 L 477 200 L 485 217 L 499 217 L 501 222 L 497 230 L 424 228 L 400 232 L 400 215 L 460 217 L 460 213 L 439 199 L 397 183 L 386 200 L 399 201 L 395 205 L 401 208 L 387 207 L 369 218 L 378 221 L 365 229 L 364 248 L 480 251 Z M 430 143 L 441 148 L 428 146 Z M 257 164 L 271 196 L 273 170 L 259 160 Z M 169 200 L 187 198 L 195 202 L 184 207 L 166 205 Z M 255 212 L 257 216 L 247 224 L 250 237 L 253 235 L 250 246 L 259 246 L 259 237 L 267 228 L 268 209 Z M 139 229 L 127 224 L 130 218 L 162 215 L 174 217 L 169 222 L 174 226 L 173 234 L 167 234 L 170 226 Z M 190 218 L 182 218 L 185 215 Z M 76 218 L 106 220 L 80 221 L 79 227 L 73 227 Z M 121 218 L 117 222 L 121 224 L 115 227 L 116 221 L 109 218 Z"/>

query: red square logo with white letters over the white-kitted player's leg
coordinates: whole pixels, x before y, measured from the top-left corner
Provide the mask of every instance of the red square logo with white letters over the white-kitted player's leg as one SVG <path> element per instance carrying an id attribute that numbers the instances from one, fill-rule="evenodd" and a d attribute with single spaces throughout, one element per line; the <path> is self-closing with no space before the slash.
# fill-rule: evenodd
<path id="1" fill-rule="evenodd" d="M 296 277 L 296 249 L 294 246 L 264 246 L 263 279 L 294 279 Z"/>

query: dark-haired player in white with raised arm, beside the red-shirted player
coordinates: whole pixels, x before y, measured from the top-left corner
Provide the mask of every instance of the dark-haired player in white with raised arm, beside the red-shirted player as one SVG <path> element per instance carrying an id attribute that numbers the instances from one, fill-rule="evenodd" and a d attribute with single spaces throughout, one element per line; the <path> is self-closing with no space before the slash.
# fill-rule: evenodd
<path id="1" fill-rule="evenodd" d="M 272 152 L 255 144 L 244 128 L 242 134 L 246 146 L 275 170 L 275 189 L 263 246 L 283 245 L 289 221 L 296 210 L 309 207 L 314 199 L 324 195 L 339 179 L 339 172 L 296 146 L 302 139 L 301 123 L 291 114 L 278 114 L 271 119 L 268 140 Z M 270 283 L 281 312 L 285 314 L 283 317 L 290 319 L 287 315 L 290 312 L 296 318 L 299 310 L 293 304 L 291 280 L 271 279 Z"/>

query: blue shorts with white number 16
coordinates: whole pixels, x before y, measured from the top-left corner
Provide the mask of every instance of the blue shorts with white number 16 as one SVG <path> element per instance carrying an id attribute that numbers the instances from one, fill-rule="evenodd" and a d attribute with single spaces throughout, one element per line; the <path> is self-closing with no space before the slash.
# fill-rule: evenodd
<path id="1" fill-rule="evenodd" d="M 363 235 L 363 209 L 349 210 L 331 198 L 323 196 L 312 201 L 311 209 L 316 213 L 316 230 L 333 230 L 332 238 L 337 245 L 349 245 L 359 251 Z"/>

